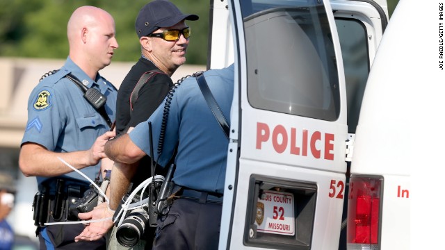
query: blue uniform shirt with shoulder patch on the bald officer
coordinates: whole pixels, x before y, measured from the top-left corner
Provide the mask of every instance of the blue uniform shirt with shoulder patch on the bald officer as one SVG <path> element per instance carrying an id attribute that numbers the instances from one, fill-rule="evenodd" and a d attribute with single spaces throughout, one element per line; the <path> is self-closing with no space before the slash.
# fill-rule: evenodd
<path id="1" fill-rule="evenodd" d="M 111 121 L 115 120 L 118 90 L 105 78 L 97 74 L 91 79 L 68 56 L 65 65 L 56 74 L 45 77 L 33 89 L 28 101 L 28 122 L 22 139 L 35 142 L 49 151 L 72 152 L 88 150 L 99 135 L 109 131 L 108 124 L 93 106 L 83 97 L 83 92 L 65 76 L 72 73 L 88 88 L 97 88 L 107 98 L 105 110 Z M 83 174 L 94 180 L 100 171 L 99 164 L 81 169 Z M 88 182 L 76 172 L 60 177 Z M 41 183 L 49 177 L 38 176 Z"/>

